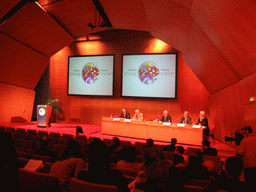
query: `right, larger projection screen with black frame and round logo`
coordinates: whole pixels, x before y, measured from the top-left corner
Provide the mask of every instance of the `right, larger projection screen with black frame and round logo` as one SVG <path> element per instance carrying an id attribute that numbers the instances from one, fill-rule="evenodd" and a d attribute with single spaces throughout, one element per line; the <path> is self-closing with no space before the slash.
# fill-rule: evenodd
<path id="1" fill-rule="evenodd" d="M 122 54 L 122 97 L 177 96 L 177 53 Z"/>

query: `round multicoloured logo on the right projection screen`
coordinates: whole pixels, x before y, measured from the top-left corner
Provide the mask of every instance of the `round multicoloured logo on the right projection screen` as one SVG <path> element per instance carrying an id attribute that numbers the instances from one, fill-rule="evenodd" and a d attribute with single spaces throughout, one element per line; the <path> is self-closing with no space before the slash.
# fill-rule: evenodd
<path id="1" fill-rule="evenodd" d="M 155 63 L 152 61 L 144 62 L 140 65 L 139 68 L 139 78 L 142 83 L 149 85 L 154 83 L 159 74 L 159 69 L 156 67 Z"/>

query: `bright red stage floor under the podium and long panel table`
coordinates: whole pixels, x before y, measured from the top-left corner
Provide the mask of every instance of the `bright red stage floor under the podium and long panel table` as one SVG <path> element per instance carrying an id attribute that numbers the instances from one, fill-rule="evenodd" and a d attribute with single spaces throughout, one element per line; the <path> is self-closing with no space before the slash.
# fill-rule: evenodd
<path id="1" fill-rule="evenodd" d="M 89 137 L 98 137 L 100 139 L 112 139 L 114 136 L 111 135 L 105 135 L 102 134 L 101 125 L 94 125 L 94 124 L 85 124 L 85 123 L 78 123 L 78 122 L 57 122 L 52 123 L 51 127 L 49 128 L 42 128 L 37 127 L 37 122 L 26 122 L 26 123 L 0 123 L 0 126 L 5 127 L 13 127 L 15 129 L 17 128 L 24 128 L 25 130 L 32 129 L 36 131 L 47 131 L 60 133 L 61 135 L 64 134 L 71 134 L 73 136 L 76 135 L 76 127 L 80 126 L 83 129 L 83 134 L 80 133 L 80 135 L 85 135 L 87 138 Z M 146 142 L 144 139 L 136 139 L 136 138 L 128 138 L 128 137 L 121 137 L 118 136 L 120 140 L 123 141 L 130 141 L 132 144 L 135 144 L 135 142 Z M 226 143 L 220 142 L 218 140 L 212 140 L 210 138 L 211 147 L 216 148 L 218 151 L 218 155 L 223 159 L 227 159 L 230 156 L 236 155 L 236 149 Z M 170 144 L 169 142 L 160 142 L 155 141 L 155 144 L 157 145 L 167 145 Z M 178 146 L 181 144 L 177 144 Z M 193 148 L 200 148 L 199 146 L 192 146 L 192 145 L 181 145 L 184 147 L 185 150 L 188 149 L 188 147 Z"/>

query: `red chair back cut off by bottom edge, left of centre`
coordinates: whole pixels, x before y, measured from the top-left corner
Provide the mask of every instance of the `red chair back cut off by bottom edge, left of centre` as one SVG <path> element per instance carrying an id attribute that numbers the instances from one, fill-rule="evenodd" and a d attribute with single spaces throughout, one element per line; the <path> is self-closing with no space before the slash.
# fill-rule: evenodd
<path id="1" fill-rule="evenodd" d="M 117 187 L 114 185 L 94 184 L 76 178 L 69 179 L 69 192 L 86 191 L 118 192 Z"/>

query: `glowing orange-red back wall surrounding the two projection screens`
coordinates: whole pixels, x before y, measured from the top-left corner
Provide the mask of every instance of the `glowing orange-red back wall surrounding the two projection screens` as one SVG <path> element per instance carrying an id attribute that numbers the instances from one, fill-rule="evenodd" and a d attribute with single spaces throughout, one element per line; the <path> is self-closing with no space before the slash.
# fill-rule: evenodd
<path id="1" fill-rule="evenodd" d="M 89 39 L 92 38 L 89 36 Z M 177 100 L 121 98 L 121 54 L 177 52 L 168 44 L 153 38 L 147 32 L 111 31 L 99 33 L 93 41 L 74 42 L 50 59 L 50 98 L 58 98 L 67 121 L 101 124 L 103 116 L 119 115 L 122 107 L 133 114 L 140 109 L 146 120 L 161 116 L 169 110 L 173 120 L 179 120 L 185 110 L 192 119 L 205 110 L 209 117 L 209 92 L 178 54 Z M 67 96 L 68 56 L 115 54 L 115 97 Z"/>

